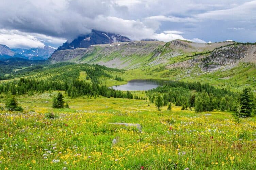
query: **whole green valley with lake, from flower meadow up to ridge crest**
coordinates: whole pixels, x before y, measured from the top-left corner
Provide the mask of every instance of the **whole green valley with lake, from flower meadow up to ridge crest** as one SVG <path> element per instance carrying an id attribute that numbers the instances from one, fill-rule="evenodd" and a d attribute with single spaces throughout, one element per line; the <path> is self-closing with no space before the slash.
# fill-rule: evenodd
<path id="1" fill-rule="evenodd" d="M 3 60 L 0 169 L 255 169 L 254 51 L 129 41 Z"/>

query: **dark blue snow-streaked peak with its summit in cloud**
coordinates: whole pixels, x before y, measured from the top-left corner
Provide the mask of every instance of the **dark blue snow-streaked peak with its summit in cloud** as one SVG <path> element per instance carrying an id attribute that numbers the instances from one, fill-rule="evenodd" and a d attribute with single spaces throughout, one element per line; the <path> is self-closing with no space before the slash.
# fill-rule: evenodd
<path id="1" fill-rule="evenodd" d="M 128 42 L 129 38 L 114 33 L 106 33 L 92 30 L 90 34 L 81 35 L 71 43 L 65 42 L 58 50 L 73 50 L 77 48 L 88 48 L 95 44 L 111 44 L 115 42 Z"/>

